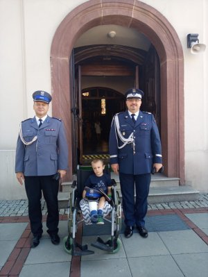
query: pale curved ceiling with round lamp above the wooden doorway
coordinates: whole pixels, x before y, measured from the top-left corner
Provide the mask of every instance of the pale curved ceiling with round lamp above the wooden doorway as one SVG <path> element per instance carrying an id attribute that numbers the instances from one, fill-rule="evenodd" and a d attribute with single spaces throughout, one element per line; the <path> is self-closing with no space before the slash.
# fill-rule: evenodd
<path id="1" fill-rule="evenodd" d="M 119 25 L 101 25 L 91 28 L 78 38 L 74 47 L 92 44 L 123 45 L 144 51 L 148 51 L 150 47 L 150 41 L 145 35 L 133 28 Z"/>

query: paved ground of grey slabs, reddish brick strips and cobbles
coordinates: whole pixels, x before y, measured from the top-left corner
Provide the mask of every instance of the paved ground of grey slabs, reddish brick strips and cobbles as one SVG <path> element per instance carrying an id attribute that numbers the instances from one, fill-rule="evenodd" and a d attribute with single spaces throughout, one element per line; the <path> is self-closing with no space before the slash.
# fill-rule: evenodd
<path id="1" fill-rule="evenodd" d="M 88 244 L 92 255 L 66 253 L 63 238 L 68 235 L 67 209 L 60 210 L 61 243 L 51 244 L 44 215 L 42 240 L 31 249 L 27 210 L 26 200 L 0 201 L 1 277 L 208 277 L 208 194 L 200 194 L 197 201 L 150 204 L 148 239 L 140 237 L 137 229 L 126 239 L 122 224 L 121 248 L 113 255 L 92 246 L 97 235 L 109 239 L 111 225 L 107 222 L 93 228 L 78 225 L 76 241 Z M 46 213 L 44 199 L 42 212 Z"/>

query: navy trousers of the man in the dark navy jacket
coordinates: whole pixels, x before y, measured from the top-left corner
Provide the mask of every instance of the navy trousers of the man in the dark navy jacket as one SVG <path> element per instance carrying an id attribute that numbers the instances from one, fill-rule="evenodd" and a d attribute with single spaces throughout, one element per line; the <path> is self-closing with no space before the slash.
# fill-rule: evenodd
<path id="1" fill-rule="evenodd" d="M 124 222 L 126 226 L 144 227 L 148 210 L 148 194 L 150 189 L 150 174 L 119 173 L 123 203 Z M 135 199 L 136 192 L 136 199 Z"/>

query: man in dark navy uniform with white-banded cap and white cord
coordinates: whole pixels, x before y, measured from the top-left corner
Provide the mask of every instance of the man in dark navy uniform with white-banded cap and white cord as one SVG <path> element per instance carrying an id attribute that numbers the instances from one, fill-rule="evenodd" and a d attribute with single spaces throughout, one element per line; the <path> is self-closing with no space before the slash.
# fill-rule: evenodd
<path id="1" fill-rule="evenodd" d="M 135 225 L 142 237 L 148 209 L 150 172 L 162 168 L 162 149 L 155 119 L 141 112 L 144 92 L 132 88 L 125 93 L 128 110 L 116 114 L 110 130 L 110 164 L 119 174 L 125 217 L 125 237 L 131 237 Z M 136 200 L 135 200 L 136 192 Z"/>

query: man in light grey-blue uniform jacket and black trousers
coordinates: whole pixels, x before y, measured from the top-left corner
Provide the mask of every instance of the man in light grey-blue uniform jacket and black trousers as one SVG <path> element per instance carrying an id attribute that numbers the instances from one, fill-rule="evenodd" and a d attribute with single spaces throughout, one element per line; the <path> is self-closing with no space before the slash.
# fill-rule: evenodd
<path id="1" fill-rule="evenodd" d="M 17 139 L 15 172 L 19 183 L 25 183 L 33 248 L 40 243 L 43 232 L 42 193 L 48 209 L 47 232 L 53 244 L 60 242 L 58 179 L 67 173 L 68 149 L 64 124 L 47 115 L 51 99 L 48 92 L 38 90 L 33 93 L 35 117 L 21 122 Z"/>

